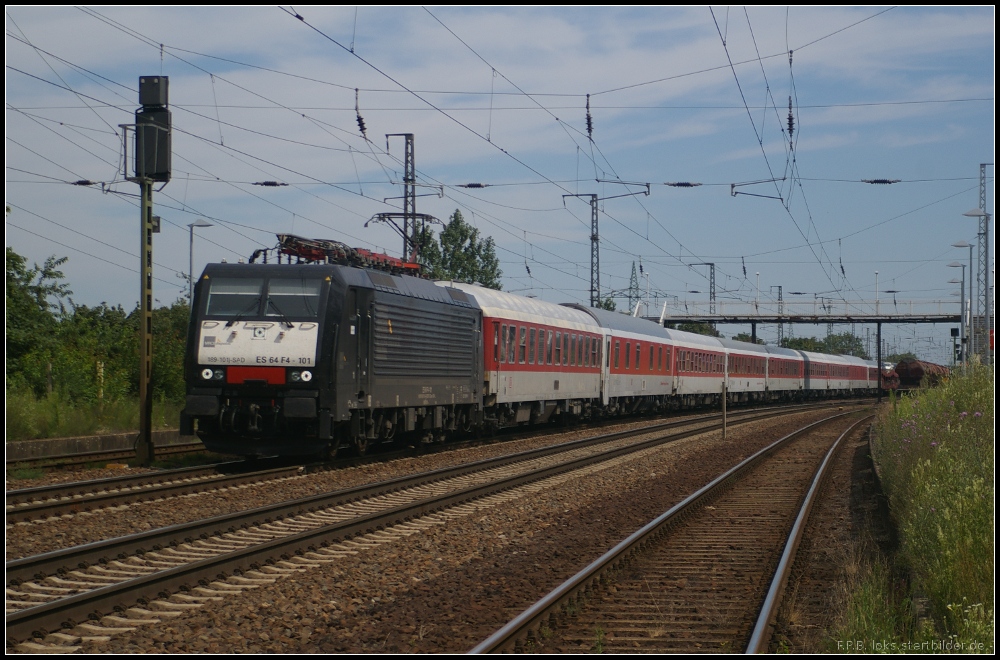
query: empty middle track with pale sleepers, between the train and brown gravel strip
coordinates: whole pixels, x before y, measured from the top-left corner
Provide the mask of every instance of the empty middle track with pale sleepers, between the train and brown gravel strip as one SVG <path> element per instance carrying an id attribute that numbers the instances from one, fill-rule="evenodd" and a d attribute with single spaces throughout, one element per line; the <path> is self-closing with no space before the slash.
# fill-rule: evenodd
<path id="1" fill-rule="evenodd" d="M 752 415 L 743 421 L 747 417 Z M 624 434 L 588 438 L 11 561 L 8 646 L 41 638 L 64 648 L 69 639 L 113 634 L 267 584 L 276 573 L 335 561 L 353 552 L 352 544 L 384 542 L 437 524 L 422 518 L 433 512 L 505 497 L 506 490 L 719 426 L 704 420 L 694 425 L 673 433 L 644 429 L 640 441 Z M 103 621 L 105 633 L 87 623 L 91 619 Z M 59 630 L 76 632 L 53 632 Z"/>

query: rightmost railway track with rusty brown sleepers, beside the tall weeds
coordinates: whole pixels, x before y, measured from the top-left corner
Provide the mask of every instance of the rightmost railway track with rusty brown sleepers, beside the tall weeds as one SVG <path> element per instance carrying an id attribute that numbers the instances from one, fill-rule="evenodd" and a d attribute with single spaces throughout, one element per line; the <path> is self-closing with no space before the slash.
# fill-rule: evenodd
<path id="1" fill-rule="evenodd" d="M 789 434 L 713 480 L 473 652 L 766 651 L 823 468 L 864 421 L 841 433 L 843 424 L 828 423 L 841 416 Z"/>

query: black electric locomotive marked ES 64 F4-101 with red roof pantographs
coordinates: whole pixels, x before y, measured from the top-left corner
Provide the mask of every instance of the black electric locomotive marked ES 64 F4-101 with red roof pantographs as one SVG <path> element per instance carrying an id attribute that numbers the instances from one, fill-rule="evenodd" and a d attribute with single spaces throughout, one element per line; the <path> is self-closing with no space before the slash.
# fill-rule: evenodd
<path id="1" fill-rule="evenodd" d="M 362 267 L 405 272 L 383 255 L 279 240 L 285 254 L 320 249 L 324 263 L 310 254 L 312 263 L 209 264 L 198 281 L 182 435 L 223 453 L 329 457 L 345 445 L 364 453 L 397 432 L 434 439 L 480 423 L 474 300 Z"/>

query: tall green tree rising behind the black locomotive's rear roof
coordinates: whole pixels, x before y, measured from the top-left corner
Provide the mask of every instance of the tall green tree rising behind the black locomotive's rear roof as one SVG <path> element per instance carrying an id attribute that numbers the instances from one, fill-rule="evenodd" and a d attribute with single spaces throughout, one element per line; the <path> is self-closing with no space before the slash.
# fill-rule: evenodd
<path id="1" fill-rule="evenodd" d="M 479 238 L 479 230 L 455 212 L 441 230 L 440 242 L 425 228 L 420 237 L 420 259 L 430 277 L 458 282 L 478 282 L 490 289 L 502 285 L 500 260 L 497 259 L 493 238 Z"/>

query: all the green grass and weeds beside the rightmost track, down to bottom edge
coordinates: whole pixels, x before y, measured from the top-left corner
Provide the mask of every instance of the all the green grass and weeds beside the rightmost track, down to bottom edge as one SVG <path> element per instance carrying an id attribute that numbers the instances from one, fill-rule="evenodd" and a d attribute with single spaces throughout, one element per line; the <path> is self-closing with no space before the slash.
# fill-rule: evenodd
<path id="1" fill-rule="evenodd" d="M 993 370 L 975 366 L 882 411 L 873 458 L 900 546 L 859 572 L 839 639 L 993 651 L 993 396 Z M 919 619 L 913 602 L 926 603 Z"/>

